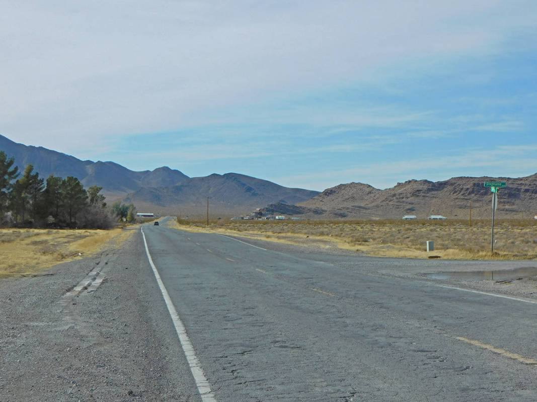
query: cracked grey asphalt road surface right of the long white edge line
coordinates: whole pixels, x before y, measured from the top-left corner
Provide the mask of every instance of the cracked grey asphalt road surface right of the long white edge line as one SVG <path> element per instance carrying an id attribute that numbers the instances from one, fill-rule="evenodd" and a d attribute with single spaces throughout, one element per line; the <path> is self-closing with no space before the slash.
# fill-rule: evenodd
<path id="1" fill-rule="evenodd" d="M 397 260 L 144 234 L 218 401 L 537 400 L 537 304 L 371 269 Z"/>

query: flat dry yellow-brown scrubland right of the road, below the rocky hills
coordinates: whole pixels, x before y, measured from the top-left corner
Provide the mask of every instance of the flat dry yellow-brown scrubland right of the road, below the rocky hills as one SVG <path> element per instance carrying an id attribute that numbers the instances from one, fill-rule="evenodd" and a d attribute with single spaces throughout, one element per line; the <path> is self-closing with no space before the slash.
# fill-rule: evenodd
<path id="1" fill-rule="evenodd" d="M 262 240 L 339 247 L 382 257 L 427 258 L 425 242 L 433 240 L 432 254 L 448 259 L 535 259 L 537 222 L 499 220 L 495 251 L 490 255 L 490 220 L 474 221 L 180 221 L 195 230 L 229 232 Z"/>

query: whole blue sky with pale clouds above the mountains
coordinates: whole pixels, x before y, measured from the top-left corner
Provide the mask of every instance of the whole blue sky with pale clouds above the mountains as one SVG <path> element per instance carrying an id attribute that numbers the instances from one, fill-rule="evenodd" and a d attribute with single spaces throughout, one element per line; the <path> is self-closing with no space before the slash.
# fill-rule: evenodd
<path id="1" fill-rule="evenodd" d="M 323 190 L 537 172 L 537 2 L 0 0 L 0 134 Z"/>

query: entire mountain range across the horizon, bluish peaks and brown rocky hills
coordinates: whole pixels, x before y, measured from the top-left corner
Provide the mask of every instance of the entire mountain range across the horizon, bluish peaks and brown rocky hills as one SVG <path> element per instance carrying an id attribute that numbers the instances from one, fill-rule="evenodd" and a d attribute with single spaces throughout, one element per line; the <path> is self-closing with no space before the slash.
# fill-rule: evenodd
<path id="1" fill-rule="evenodd" d="M 80 160 L 43 147 L 17 144 L 0 135 L 0 150 L 14 157 L 22 170 L 28 163 L 42 177 L 75 176 L 85 185 L 99 185 L 108 200 L 132 202 L 139 211 L 159 214 L 245 214 L 267 206 L 276 214 L 311 219 L 426 218 L 431 214 L 466 219 L 490 218 L 490 189 L 483 182 L 505 181 L 499 191 L 498 218 L 528 218 L 537 213 L 537 174 L 510 177 L 453 177 L 409 180 L 385 190 L 364 183 L 339 184 L 323 192 L 287 188 L 238 173 L 188 177 L 163 166 L 134 172 L 114 162 Z"/>

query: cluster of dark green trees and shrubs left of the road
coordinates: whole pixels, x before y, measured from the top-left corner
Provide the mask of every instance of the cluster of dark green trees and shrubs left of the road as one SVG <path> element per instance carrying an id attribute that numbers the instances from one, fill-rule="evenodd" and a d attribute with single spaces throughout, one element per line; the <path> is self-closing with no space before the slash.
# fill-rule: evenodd
<path id="1" fill-rule="evenodd" d="M 134 205 L 107 207 L 103 189 L 87 190 L 76 177 L 39 177 L 32 165 L 19 172 L 13 158 L 0 151 L 0 224 L 34 227 L 108 228 L 136 220 Z"/>

